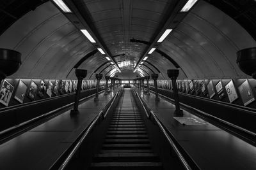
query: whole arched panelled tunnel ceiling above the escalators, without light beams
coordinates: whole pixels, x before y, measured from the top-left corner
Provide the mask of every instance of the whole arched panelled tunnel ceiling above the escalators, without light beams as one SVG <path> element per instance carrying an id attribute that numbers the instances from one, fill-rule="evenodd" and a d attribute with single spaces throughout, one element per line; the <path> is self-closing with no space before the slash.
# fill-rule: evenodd
<path id="1" fill-rule="evenodd" d="M 74 2 L 88 25 L 93 25 L 93 31 L 100 36 L 110 55 L 119 55 L 115 60 L 122 73 L 133 71 L 148 48 L 130 39 L 150 43 L 177 3 L 175 0 Z M 237 67 L 236 52 L 256 46 L 255 39 L 240 23 L 210 3 L 199 1 L 157 49 L 179 64 L 179 78 L 247 78 Z M 76 78 L 73 67 L 95 50 L 51 1 L 29 11 L 6 29 L 0 36 L 0 48 L 22 53 L 22 66 L 10 77 L 52 79 Z M 88 70 L 86 79 L 95 79 L 95 73 L 122 74 L 99 52 L 88 57 L 79 68 Z M 176 67 L 155 51 L 148 55 L 138 74 L 157 73 L 159 79 L 168 79 L 167 69 Z"/>

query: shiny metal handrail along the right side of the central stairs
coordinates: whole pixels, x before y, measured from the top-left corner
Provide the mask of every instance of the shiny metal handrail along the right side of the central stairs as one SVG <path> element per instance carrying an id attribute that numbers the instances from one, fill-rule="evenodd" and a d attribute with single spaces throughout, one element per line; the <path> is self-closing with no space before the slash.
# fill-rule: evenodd
<path id="1" fill-rule="evenodd" d="M 137 92 L 136 92 L 137 93 Z M 138 93 L 137 93 L 138 96 Z M 140 96 L 138 96 L 140 99 Z M 142 104 L 143 108 L 145 108 L 145 104 L 141 101 L 140 99 L 140 103 Z M 147 113 L 147 110 L 145 110 L 145 112 Z M 149 115 L 147 113 L 147 115 Z M 150 110 L 150 115 L 153 116 L 154 120 L 157 122 L 157 125 L 159 126 L 159 128 L 161 129 L 161 131 L 163 132 L 165 138 L 168 140 L 168 142 L 170 143 L 170 145 L 172 146 L 173 150 L 175 151 L 175 153 L 177 154 L 179 160 L 182 162 L 182 165 L 187 169 L 187 170 L 191 170 L 192 168 L 189 166 L 188 162 L 186 161 L 186 159 L 184 159 L 184 157 L 182 156 L 182 153 L 180 153 L 179 149 L 177 148 L 177 146 L 175 145 L 175 143 L 173 142 L 172 138 L 168 135 L 168 133 L 165 131 L 163 125 L 161 124 L 161 121 L 159 120 L 159 118 L 157 118 L 156 114 L 154 113 L 154 111 Z"/>

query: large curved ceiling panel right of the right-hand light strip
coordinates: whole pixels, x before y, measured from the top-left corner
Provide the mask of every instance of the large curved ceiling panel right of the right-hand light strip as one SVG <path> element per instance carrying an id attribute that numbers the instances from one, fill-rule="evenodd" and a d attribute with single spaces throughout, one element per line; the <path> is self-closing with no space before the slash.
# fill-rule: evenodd
<path id="1" fill-rule="evenodd" d="M 159 49 L 170 55 L 188 78 L 241 78 L 248 76 L 238 68 L 236 52 L 252 46 L 256 43 L 243 27 L 200 1 Z"/>

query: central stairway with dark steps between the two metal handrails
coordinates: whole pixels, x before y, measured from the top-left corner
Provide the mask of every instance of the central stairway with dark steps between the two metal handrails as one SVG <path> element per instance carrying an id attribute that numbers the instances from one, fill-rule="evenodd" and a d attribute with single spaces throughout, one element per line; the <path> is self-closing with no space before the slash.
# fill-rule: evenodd
<path id="1" fill-rule="evenodd" d="M 163 169 L 152 152 L 141 113 L 130 89 L 124 89 L 108 127 L 100 153 L 91 169 Z"/>

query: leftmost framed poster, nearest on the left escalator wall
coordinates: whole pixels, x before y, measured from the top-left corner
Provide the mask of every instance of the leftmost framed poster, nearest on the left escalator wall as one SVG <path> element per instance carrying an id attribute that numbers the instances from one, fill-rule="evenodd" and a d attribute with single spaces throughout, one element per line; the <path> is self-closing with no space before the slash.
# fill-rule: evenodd
<path id="1" fill-rule="evenodd" d="M 4 106 L 8 106 L 13 90 L 14 87 L 8 81 L 4 80 L 0 90 L 0 103 L 4 104 Z"/>

